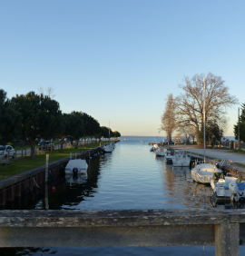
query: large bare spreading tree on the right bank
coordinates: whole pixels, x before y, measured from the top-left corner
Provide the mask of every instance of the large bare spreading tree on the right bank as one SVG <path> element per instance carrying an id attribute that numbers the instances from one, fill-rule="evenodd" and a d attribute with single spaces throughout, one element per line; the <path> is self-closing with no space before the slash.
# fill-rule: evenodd
<path id="1" fill-rule="evenodd" d="M 238 103 L 235 96 L 229 94 L 229 88 L 220 76 L 208 74 L 205 79 L 206 120 L 216 120 L 217 123 L 225 124 L 224 115 L 226 108 Z M 176 97 L 175 116 L 179 125 L 193 126 L 198 137 L 198 144 L 203 143 L 203 103 L 204 103 L 204 80 L 203 74 L 196 74 L 191 79 L 184 77 L 184 83 L 180 84 L 184 94 Z"/>

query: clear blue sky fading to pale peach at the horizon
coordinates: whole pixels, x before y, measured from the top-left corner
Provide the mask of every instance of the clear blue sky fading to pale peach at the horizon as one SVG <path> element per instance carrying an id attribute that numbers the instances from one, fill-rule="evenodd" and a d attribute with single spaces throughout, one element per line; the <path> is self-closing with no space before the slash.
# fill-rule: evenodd
<path id="1" fill-rule="evenodd" d="M 244 10 L 243 0 L 0 0 L 0 88 L 11 98 L 52 87 L 64 113 L 164 136 L 167 95 L 184 76 L 219 75 L 245 103 Z"/>

